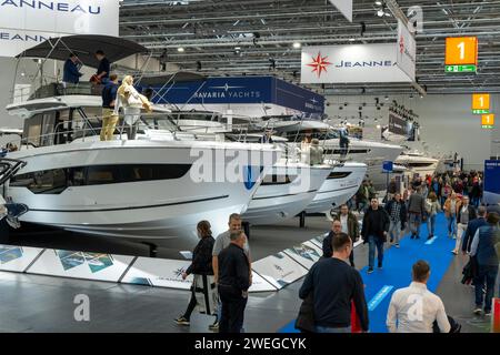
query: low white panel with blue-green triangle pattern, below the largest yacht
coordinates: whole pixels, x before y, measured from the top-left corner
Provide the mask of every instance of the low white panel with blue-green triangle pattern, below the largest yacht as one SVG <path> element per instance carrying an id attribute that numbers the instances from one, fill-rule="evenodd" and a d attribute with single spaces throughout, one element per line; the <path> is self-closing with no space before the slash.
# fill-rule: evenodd
<path id="1" fill-rule="evenodd" d="M 44 250 L 30 274 L 118 282 L 133 256 Z"/>

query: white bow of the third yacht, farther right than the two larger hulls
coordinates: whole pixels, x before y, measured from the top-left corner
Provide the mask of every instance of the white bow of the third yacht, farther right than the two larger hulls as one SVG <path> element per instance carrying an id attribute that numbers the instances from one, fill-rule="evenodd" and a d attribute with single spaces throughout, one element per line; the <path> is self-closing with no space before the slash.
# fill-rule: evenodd
<path id="1" fill-rule="evenodd" d="M 367 164 L 363 163 L 348 162 L 334 166 L 306 212 L 323 213 L 344 204 L 356 194 L 366 173 Z"/>

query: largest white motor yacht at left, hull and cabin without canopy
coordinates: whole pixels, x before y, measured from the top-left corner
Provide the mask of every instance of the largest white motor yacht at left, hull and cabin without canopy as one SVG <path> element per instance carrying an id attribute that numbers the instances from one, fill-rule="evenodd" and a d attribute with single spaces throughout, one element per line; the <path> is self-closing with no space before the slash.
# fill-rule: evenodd
<path id="1" fill-rule="evenodd" d="M 230 213 L 247 210 L 280 155 L 270 144 L 193 140 L 156 115 L 143 120 L 136 140 L 117 134 L 100 142 L 100 105 L 99 97 L 67 94 L 7 108 L 24 119 L 20 149 L 8 158 L 27 165 L 6 193 L 29 206 L 21 222 L 103 236 L 194 239 L 196 224 L 208 220 L 219 233 Z M 257 160 L 236 159 L 249 155 Z M 227 179 L 228 171 L 234 176 Z"/>

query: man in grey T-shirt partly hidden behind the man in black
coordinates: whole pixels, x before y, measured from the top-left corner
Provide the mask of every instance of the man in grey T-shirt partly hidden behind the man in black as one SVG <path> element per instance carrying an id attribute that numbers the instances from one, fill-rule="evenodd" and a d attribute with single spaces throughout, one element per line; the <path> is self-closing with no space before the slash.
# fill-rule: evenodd
<path id="1" fill-rule="evenodd" d="M 216 239 L 216 243 L 213 244 L 213 252 L 212 252 L 212 268 L 213 268 L 213 276 L 216 284 L 219 283 L 219 254 L 227 248 L 231 244 L 230 234 L 233 232 L 238 232 L 241 230 L 241 215 L 238 213 L 232 213 L 229 216 L 229 230 L 219 234 Z M 248 240 L 246 241 L 243 245 L 244 254 L 248 257 L 249 263 L 249 270 L 250 270 L 250 285 L 252 284 L 252 264 L 251 264 L 251 257 L 250 257 L 250 248 L 248 244 Z M 222 304 L 219 303 L 219 310 L 218 310 L 218 321 L 209 326 L 210 331 L 217 331 L 219 328 L 219 321 L 222 315 Z"/>

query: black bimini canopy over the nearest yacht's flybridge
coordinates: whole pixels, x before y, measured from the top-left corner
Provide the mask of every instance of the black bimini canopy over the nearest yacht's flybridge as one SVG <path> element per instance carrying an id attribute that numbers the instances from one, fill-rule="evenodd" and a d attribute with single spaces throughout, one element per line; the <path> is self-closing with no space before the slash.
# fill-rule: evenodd
<path id="1" fill-rule="evenodd" d="M 132 54 L 148 52 L 146 47 L 119 37 L 76 34 L 48 39 L 16 57 L 46 58 L 64 61 L 72 52 L 83 64 L 98 68 L 99 61 L 94 55 L 98 50 L 102 50 L 110 62 L 119 61 Z"/>

